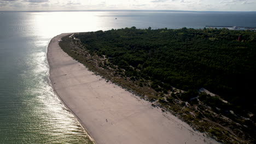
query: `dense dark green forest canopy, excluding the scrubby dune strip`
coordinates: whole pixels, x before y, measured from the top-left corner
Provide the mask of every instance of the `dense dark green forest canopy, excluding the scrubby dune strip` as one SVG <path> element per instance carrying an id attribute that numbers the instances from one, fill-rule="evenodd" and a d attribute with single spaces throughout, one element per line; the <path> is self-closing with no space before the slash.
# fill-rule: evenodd
<path id="1" fill-rule="evenodd" d="M 105 55 L 125 69 L 126 76 L 151 79 L 156 91 L 203 87 L 229 101 L 235 111 L 255 113 L 255 32 L 132 27 L 75 37 L 90 53 Z"/>

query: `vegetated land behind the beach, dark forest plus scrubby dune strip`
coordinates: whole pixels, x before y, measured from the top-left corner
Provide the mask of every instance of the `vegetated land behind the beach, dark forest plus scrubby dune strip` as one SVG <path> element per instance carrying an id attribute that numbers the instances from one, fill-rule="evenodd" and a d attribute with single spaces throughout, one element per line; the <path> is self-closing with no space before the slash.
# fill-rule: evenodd
<path id="1" fill-rule="evenodd" d="M 222 143 L 255 143 L 254 31 L 217 28 L 73 33 L 59 45 L 96 75 Z"/>

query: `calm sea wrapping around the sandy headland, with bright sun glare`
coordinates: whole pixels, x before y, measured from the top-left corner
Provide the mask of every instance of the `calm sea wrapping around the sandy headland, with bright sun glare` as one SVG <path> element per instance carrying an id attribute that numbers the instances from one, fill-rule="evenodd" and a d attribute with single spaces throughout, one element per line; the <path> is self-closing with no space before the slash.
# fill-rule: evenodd
<path id="1" fill-rule="evenodd" d="M 115 19 L 117 18 L 117 19 Z M 49 40 L 67 32 L 256 27 L 256 13 L 83 11 L 0 14 L 0 143 L 89 143 L 50 86 Z"/>

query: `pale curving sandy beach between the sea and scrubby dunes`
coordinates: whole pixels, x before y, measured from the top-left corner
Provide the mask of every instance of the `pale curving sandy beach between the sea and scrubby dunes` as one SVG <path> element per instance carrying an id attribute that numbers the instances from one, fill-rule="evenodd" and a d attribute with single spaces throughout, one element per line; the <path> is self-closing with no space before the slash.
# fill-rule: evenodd
<path id="1" fill-rule="evenodd" d="M 95 143 L 218 143 L 69 57 L 58 42 L 64 35 L 48 46 L 50 80 Z"/>

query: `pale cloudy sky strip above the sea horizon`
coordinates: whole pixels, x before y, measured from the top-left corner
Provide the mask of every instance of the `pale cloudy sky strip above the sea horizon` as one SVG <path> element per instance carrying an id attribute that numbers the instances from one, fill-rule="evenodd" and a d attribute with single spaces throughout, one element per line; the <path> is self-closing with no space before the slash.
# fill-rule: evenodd
<path id="1" fill-rule="evenodd" d="M 0 0 L 0 10 L 256 11 L 256 0 Z"/>

